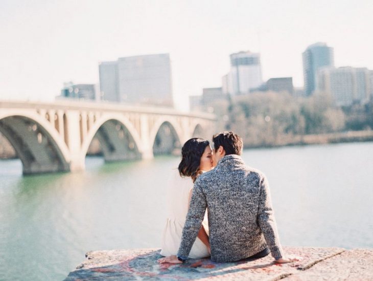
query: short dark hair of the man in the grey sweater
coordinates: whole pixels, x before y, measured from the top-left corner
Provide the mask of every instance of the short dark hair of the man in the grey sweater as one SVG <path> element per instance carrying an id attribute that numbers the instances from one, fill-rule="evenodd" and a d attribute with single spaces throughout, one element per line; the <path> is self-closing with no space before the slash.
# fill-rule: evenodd
<path id="1" fill-rule="evenodd" d="M 214 149 L 218 150 L 219 146 L 223 146 L 225 155 L 236 154 L 241 155 L 243 141 L 241 137 L 233 132 L 218 133 L 213 136 Z"/>

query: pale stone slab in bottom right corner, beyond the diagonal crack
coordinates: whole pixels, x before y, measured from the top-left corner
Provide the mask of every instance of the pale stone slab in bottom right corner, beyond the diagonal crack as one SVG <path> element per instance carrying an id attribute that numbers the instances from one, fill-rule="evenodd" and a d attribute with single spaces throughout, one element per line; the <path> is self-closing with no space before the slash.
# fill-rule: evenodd
<path id="1" fill-rule="evenodd" d="M 285 280 L 373 280 L 373 249 L 345 251 Z"/>

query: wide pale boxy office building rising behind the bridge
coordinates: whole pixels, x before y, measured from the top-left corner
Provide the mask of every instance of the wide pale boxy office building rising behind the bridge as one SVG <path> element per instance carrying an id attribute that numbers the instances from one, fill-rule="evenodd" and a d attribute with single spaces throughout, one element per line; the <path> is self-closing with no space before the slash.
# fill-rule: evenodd
<path id="1" fill-rule="evenodd" d="M 143 55 L 101 62 L 102 99 L 173 106 L 169 54 Z"/>

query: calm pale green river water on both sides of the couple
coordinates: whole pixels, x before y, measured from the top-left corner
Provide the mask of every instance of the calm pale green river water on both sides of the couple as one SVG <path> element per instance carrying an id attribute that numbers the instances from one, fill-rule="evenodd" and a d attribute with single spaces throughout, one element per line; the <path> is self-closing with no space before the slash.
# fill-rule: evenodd
<path id="1" fill-rule="evenodd" d="M 283 245 L 373 247 L 373 143 L 245 150 L 270 184 Z M 0 280 L 61 280 L 89 250 L 158 248 L 178 157 L 87 158 L 80 173 L 23 177 L 0 161 Z"/>

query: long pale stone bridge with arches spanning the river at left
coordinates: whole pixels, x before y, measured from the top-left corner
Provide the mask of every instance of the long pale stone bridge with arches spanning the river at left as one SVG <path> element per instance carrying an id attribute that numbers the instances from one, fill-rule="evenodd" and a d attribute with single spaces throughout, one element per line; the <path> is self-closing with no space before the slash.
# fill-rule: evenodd
<path id="1" fill-rule="evenodd" d="M 0 101 L 0 132 L 24 174 L 84 169 L 96 137 L 105 161 L 168 154 L 188 139 L 211 138 L 215 116 L 174 109 L 82 101 Z"/>

